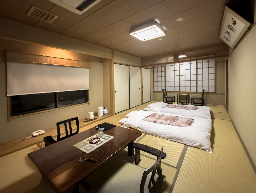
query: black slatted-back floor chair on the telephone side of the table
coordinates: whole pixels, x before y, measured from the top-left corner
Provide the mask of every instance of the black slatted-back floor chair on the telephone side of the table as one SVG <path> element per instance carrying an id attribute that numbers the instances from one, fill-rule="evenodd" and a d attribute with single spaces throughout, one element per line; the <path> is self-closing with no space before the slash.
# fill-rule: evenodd
<path id="1" fill-rule="evenodd" d="M 76 121 L 76 124 L 77 124 L 77 131 L 75 133 L 73 133 L 72 131 L 72 126 L 71 126 L 71 122 L 72 121 Z M 61 137 L 61 133 L 60 133 L 60 125 L 64 124 L 65 126 L 65 132 L 66 132 L 66 136 L 64 137 Z M 69 130 L 68 130 L 68 127 L 67 127 L 67 124 L 69 125 Z M 79 120 L 78 120 L 78 117 L 75 117 L 75 118 L 72 118 L 72 119 L 68 119 L 68 120 L 65 120 L 65 121 L 61 121 L 61 122 L 58 122 L 57 123 L 57 133 L 58 133 L 58 136 L 57 136 L 57 141 L 55 141 L 52 136 L 47 136 L 44 138 L 44 142 L 45 142 L 45 147 L 48 146 L 48 145 L 51 145 L 51 144 L 54 144 L 54 143 L 57 143 L 61 140 L 64 140 L 70 136 L 73 136 L 75 134 L 78 134 L 79 132 Z"/>

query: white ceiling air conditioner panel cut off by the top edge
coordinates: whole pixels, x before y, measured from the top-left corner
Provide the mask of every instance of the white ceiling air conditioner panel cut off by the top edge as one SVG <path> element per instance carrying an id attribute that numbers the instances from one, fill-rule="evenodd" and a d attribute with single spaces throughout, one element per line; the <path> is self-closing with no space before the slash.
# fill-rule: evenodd
<path id="1" fill-rule="evenodd" d="M 55 3 L 65 9 L 70 10 L 78 15 L 82 15 L 84 12 L 88 11 L 97 3 L 102 0 L 49 0 L 52 3 Z"/>

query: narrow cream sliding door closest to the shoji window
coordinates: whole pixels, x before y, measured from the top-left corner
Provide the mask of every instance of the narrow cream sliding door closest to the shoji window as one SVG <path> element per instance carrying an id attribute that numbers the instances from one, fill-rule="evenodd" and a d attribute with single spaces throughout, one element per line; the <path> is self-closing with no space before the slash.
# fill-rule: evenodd
<path id="1" fill-rule="evenodd" d="M 142 85 L 143 85 L 143 103 L 149 102 L 150 99 L 150 69 L 142 68 Z"/>

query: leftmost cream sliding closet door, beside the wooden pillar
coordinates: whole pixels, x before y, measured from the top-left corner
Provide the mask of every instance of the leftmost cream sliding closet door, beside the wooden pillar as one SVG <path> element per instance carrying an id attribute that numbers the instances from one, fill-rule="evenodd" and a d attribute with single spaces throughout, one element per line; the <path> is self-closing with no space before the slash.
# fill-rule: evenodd
<path id="1" fill-rule="evenodd" d="M 129 106 L 129 66 L 115 64 L 115 113 Z"/>

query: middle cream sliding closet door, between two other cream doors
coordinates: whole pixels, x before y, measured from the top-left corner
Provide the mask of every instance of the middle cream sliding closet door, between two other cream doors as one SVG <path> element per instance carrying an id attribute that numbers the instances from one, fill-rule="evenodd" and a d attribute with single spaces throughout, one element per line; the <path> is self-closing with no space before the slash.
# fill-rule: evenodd
<path id="1" fill-rule="evenodd" d="M 141 105 L 141 68 L 130 66 L 130 108 Z"/>

